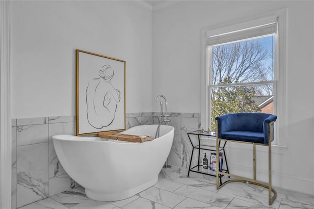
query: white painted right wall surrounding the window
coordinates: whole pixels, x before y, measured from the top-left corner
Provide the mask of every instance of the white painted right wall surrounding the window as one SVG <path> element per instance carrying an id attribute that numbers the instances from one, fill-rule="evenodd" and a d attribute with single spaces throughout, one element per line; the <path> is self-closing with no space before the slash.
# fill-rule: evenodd
<path id="1" fill-rule="evenodd" d="M 280 139 L 288 149 L 274 148 L 273 184 L 314 194 L 314 2 L 183 1 L 153 12 L 153 97 L 162 93 L 170 112 L 201 111 L 201 29 L 272 10 L 288 8 L 287 112 Z M 280 107 L 278 107 L 280 108 Z M 159 105 L 153 103 L 153 111 Z M 235 172 L 252 167 L 243 149 L 230 149 Z M 261 156 L 261 157 L 260 157 Z M 258 169 L 266 177 L 265 153 Z M 244 167 L 243 167 L 244 166 Z"/>

